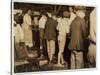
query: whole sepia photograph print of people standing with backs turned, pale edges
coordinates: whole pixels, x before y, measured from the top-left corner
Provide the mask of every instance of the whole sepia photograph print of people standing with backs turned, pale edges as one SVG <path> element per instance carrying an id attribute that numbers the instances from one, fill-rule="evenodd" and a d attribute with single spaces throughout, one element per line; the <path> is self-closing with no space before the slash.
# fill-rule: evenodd
<path id="1" fill-rule="evenodd" d="M 12 3 L 14 73 L 96 68 L 96 7 Z"/>

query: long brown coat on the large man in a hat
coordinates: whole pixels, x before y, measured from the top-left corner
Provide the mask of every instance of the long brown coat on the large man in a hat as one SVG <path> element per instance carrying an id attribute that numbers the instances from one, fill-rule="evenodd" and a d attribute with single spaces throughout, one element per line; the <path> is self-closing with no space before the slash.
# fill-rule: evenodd
<path id="1" fill-rule="evenodd" d="M 76 17 L 71 26 L 71 40 L 69 43 L 70 50 L 84 50 L 84 39 L 86 37 L 86 24 L 85 20 Z"/>

